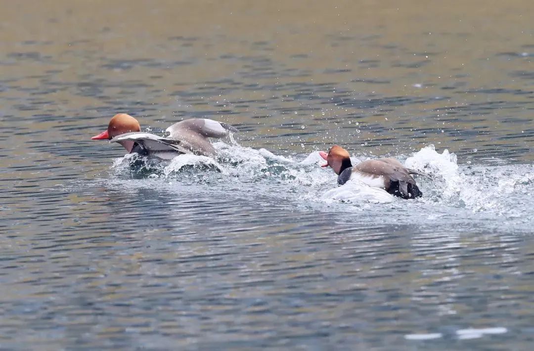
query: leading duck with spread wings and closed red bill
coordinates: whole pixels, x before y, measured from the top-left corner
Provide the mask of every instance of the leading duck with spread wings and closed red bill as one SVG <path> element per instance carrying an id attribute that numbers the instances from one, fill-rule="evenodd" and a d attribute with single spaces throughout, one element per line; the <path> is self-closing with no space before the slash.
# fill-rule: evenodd
<path id="1" fill-rule="evenodd" d="M 223 138 L 237 132 L 237 129 L 223 122 L 193 118 L 172 124 L 166 132 L 166 137 L 142 132 L 135 118 L 126 113 L 117 113 L 109 121 L 107 129 L 91 139 L 119 143 L 128 153 L 161 159 L 172 159 L 185 153 L 213 157 L 215 149 L 208 138 Z"/>

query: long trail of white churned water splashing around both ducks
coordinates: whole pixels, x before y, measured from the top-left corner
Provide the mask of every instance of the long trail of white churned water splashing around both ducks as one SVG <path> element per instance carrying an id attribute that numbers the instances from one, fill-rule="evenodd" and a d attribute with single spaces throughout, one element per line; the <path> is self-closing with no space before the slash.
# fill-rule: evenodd
<path id="1" fill-rule="evenodd" d="M 289 208 L 357 211 L 371 216 L 373 221 L 387 211 L 387 220 L 394 223 L 448 225 L 454 218 L 459 225 L 491 221 L 492 228 L 499 225 L 523 228 L 529 221 L 526 218 L 532 215 L 531 165 L 459 164 L 454 153 L 447 150 L 439 153 L 434 145 L 429 145 L 407 158 L 398 155 L 398 159 L 406 160 L 407 167 L 429 175 L 416 176 L 422 198 L 403 200 L 357 181 L 337 186 L 332 169 L 320 167 L 324 160 L 317 151 L 279 155 L 237 143 L 216 142 L 214 146 L 215 159 L 180 155 L 171 161 L 158 161 L 126 155 L 114 160 L 112 176 L 122 181 L 161 178 L 164 182 L 175 182 L 176 186 L 209 184 L 210 188 L 203 191 L 244 192 L 258 199 L 282 201 Z M 358 159 L 366 158 L 357 155 L 353 160 L 357 163 Z M 495 216 L 504 221 L 494 221 Z"/>

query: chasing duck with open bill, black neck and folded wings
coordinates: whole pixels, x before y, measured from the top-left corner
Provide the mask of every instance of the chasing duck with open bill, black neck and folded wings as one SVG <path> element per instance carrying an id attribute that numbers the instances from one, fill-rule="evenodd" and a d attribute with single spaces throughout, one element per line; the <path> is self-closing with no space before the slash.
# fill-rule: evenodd
<path id="1" fill-rule="evenodd" d="M 337 174 L 337 184 L 339 185 L 356 179 L 368 186 L 381 188 L 393 196 L 403 199 L 415 199 L 423 196 L 412 175 L 426 174 L 406 168 L 396 159 L 365 160 L 352 166 L 350 154 L 339 145 L 332 146 L 328 153 L 319 151 L 319 154 L 326 160 L 326 165 L 321 167 L 332 167 Z"/>

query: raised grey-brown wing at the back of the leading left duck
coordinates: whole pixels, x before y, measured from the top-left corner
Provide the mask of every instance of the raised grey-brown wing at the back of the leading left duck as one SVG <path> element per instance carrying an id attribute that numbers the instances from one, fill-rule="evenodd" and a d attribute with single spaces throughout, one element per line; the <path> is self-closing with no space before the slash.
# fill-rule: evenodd
<path id="1" fill-rule="evenodd" d="M 169 139 L 180 141 L 181 145 L 189 151 L 202 155 L 214 155 L 215 149 L 208 138 L 223 138 L 236 132 L 237 129 L 230 124 L 206 118 L 194 118 L 172 124 L 167 131 Z"/>

